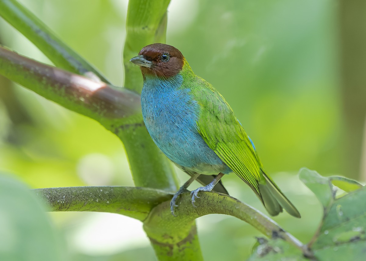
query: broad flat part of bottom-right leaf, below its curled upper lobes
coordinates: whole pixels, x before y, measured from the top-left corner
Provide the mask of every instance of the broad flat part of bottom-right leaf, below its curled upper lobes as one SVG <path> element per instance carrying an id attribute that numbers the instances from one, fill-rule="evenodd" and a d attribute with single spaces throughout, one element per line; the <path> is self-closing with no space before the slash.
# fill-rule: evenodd
<path id="1" fill-rule="evenodd" d="M 334 201 L 311 248 L 318 260 L 364 260 L 366 188 Z"/>

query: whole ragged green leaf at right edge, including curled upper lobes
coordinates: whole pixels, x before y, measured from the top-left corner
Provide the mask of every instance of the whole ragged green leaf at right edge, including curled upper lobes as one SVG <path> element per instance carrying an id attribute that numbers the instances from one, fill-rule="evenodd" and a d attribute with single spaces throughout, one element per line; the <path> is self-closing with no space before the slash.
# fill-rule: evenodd
<path id="1" fill-rule="evenodd" d="M 366 189 L 343 177 L 300 170 L 300 178 L 324 205 L 324 217 L 309 247 L 318 260 L 363 260 L 366 251 Z M 332 184 L 346 192 L 334 199 Z M 361 189 L 360 189 L 361 188 Z"/>

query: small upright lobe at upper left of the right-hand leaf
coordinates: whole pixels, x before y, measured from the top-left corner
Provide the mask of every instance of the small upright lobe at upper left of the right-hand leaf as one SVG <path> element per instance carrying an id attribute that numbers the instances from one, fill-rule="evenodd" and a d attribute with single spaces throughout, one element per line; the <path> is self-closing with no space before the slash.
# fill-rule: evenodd
<path id="1" fill-rule="evenodd" d="M 300 169 L 300 180 L 315 194 L 324 207 L 333 201 L 332 185 L 329 178 L 322 177 L 314 170 Z"/>

